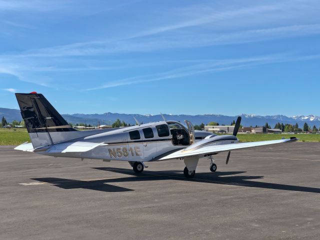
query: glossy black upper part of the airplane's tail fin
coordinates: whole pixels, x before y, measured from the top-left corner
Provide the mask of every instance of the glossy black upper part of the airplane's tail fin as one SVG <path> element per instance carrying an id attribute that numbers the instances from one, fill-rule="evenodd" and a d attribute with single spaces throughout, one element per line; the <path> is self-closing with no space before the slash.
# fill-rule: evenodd
<path id="1" fill-rule="evenodd" d="M 75 131 L 40 93 L 15 93 L 28 132 Z"/>

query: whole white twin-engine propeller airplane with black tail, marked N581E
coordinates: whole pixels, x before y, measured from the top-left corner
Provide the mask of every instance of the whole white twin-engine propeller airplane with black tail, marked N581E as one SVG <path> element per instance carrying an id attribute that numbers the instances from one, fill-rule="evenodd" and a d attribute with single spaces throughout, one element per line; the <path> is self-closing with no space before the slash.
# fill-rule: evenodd
<path id="1" fill-rule="evenodd" d="M 296 141 L 296 137 L 280 140 L 239 143 L 236 137 L 241 117 L 236 120 L 232 135 L 216 135 L 194 130 L 190 121 L 185 125 L 166 120 L 128 127 L 76 130 L 72 128 L 40 93 L 15 93 L 21 116 L 31 142 L 14 149 L 54 157 L 128 161 L 135 173 L 141 173 L 145 162 L 180 159 L 184 161 L 183 174 L 194 177 L 199 158 L 210 160 L 210 171 L 217 169 L 213 155 L 231 150 Z"/>

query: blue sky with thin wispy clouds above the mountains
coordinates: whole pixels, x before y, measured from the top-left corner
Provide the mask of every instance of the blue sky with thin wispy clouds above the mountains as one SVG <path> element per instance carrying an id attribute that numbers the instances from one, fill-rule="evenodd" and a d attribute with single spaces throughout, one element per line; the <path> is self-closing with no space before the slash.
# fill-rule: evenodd
<path id="1" fill-rule="evenodd" d="M 320 115 L 318 0 L 0 0 L 0 107 Z"/>

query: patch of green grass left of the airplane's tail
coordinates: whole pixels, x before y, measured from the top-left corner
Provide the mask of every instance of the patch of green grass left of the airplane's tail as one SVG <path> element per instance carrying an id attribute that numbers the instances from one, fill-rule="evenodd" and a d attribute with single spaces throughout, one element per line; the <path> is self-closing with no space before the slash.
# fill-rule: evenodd
<path id="1" fill-rule="evenodd" d="M 0 145 L 19 145 L 30 141 L 25 128 L 0 128 Z"/>

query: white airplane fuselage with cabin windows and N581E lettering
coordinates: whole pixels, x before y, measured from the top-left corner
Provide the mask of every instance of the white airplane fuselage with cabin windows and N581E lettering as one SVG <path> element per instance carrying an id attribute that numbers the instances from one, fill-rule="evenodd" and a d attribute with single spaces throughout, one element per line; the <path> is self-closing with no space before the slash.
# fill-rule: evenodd
<path id="1" fill-rule="evenodd" d="M 180 128 L 171 128 L 172 124 L 180 126 Z M 117 128 L 106 132 L 99 132 L 99 130 L 91 132 L 96 132 L 96 134 L 79 137 L 74 140 L 102 143 L 92 150 L 67 153 L 39 151 L 38 153 L 50 156 L 105 160 L 151 161 L 156 160 L 156 157 L 164 153 L 189 146 L 188 129 L 179 122 L 173 121 L 158 121 Z M 222 136 L 204 139 L 209 135 L 212 136 L 212 133 L 196 131 L 195 141 L 203 140 L 205 145 L 235 143 L 234 139 L 233 141 L 232 139 L 223 139 Z M 214 140 L 215 137 L 221 139 Z"/>

